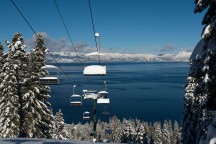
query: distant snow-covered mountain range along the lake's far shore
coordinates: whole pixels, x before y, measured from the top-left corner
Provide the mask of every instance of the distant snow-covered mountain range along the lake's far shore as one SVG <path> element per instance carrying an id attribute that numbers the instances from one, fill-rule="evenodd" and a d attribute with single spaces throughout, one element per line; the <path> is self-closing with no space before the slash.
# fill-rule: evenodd
<path id="1" fill-rule="evenodd" d="M 60 63 L 71 62 L 94 62 L 98 61 L 98 56 L 86 56 L 84 53 L 74 52 L 50 52 L 51 56 Z M 54 62 L 51 56 L 47 56 L 48 62 Z M 191 52 L 182 51 L 177 54 L 121 54 L 121 53 L 103 53 L 100 56 L 101 61 L 106 62 L 188 62 Z"/>

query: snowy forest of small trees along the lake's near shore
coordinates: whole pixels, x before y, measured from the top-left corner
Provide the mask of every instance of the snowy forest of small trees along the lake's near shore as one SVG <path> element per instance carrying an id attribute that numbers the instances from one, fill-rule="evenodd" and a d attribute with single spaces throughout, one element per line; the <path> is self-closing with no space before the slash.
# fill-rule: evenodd
<path id="1" fill-rule="evenodd" d="M 68 139 L 91 141 L 93 123 L 67 124 Z M 139 119 L 119 120 L 117 116 L 109 122 L 97 122 L 97 141 L 112 143 L 180 144 L 180 126 L 177 121 L 142 122 Z"/>

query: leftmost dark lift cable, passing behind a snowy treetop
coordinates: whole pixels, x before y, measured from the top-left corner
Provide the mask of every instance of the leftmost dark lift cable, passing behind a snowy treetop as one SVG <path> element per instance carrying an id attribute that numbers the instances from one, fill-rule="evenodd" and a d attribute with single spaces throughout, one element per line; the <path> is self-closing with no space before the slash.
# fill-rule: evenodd
<path id="1" fill-rule="evenodd" d="M 35 30 L 33 29 L 33 27 L 31 26 L 31 24 L 27 21 L 27 19 L 25 18 L 25 16 L 22 14 L 22 12 L 20 11 L 20 9 L 17 7 L 17 5 L 14 3 L 13 0 L 11 0 L 11 2 L 13 3 L 14 7 L 18 10 L 19 14 L 22 16 L 22 18 L 25 20 L 25 22 L 28 24 L 28 26 L 31 28 L 31 30 L 33 31 L 33 33 L 35 34 L 35 36 L 38 37 L 37 33 L 35 32 Z M 60 64 L 57 62 L 57 60 L 52 56 L 52 54 L 50 53 L 50 51 L 48 51 L 49 55 L 51 56 L 51 58 L 55 61 L 55 63 L 58 65 L 58 67 L 61 69 L 61 71 L 64 73 L 64 75 L 69 79 L 69 76 L 65 73 L 65 71 L 62 69 L 62 67 L 60 66 Z"/>

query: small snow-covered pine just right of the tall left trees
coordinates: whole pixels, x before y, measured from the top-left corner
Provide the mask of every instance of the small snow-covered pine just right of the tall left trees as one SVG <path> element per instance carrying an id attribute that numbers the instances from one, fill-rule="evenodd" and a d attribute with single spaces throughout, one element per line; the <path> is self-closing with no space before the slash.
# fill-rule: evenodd
<path id="1" fill-rule="evenodd" d="M 68 133 L 65 130 L 63 114 L 60 109 L 55 114 L 55 138 L 64 140 L 68 138 Z"/>

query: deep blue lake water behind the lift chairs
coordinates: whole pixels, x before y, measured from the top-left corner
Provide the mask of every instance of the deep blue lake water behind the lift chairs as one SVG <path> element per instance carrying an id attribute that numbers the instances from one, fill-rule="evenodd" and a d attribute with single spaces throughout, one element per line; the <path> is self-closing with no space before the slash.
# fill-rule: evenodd
<path id="1" fill-rule="evenodd" d="M 183 112 L 184 85 L 189 71 L 188 63 L 108 63 L 106 76 L 83 76 L 81 64 L 60 64 L 60 85 L 51 86 L 54 113 L 61 109 L 66 123 L 84 122 L 84 111 L 92 112 L 93 101 L 83 101 L 82 107 L 71 107 L 73 85 L 75 93 L 82 90 L 109 92 L 109 106 L 97 105 L 97 118 L 138 118 L 143 121 L 180 121 Z M 103 115 L 109 111 L 110 115 Z"/>

